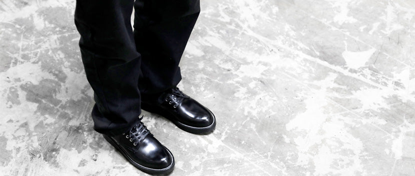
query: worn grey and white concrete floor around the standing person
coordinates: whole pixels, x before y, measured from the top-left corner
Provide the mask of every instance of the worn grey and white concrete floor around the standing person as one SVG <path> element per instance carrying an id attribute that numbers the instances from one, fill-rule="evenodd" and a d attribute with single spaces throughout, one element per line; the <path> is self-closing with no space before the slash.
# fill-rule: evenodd
<path id="1" fill-rule="evenodd" d="M 216 131 L 143 112 L 171 175 L 415 175 L 415 1 L 201 3 L 179 87 Z M 74 8 L 0 1 L 0 175 L 146 175 L 93 130 Z"/>

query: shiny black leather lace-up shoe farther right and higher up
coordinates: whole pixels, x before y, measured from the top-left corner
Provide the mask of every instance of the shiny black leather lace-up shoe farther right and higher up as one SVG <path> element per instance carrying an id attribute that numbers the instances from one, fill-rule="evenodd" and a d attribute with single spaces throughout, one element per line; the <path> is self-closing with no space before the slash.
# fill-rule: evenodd
<path id="1" fill-rule="evenodd" d="M 161 93 L 156 99 L 161 99 L 162 103 L 156 103 L 159 102 L 157 100 L 141 101 L 141 108 L 166 117 L 187 132 L 202 134 L 215 129 L 215 115 L 179 88 L 173 87 Z"/>

